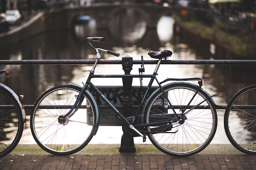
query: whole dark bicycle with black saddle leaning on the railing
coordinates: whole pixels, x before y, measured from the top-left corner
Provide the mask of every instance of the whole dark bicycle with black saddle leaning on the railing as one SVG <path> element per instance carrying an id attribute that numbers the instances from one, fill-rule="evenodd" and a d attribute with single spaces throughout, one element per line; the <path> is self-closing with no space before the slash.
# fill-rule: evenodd
<path id="1" fill-rule="evenodd" d="M 119 56 L 115 51 L 95 48 L 91 42 L 101 42 L 103 37 L 89 37 L 88 44 L 96 53 L 96 60 L 83 86 L 68 83 L 56 86 L 41 95 L 31 112 L 31 132 L 43 150 L 54 155 L 70 155 L 83 149 L 96 134 L 99 127 L 99 108 L 96 100 L 88 91 L 93 89 L 106 105 L 115 111 L 124 122 L 122 127 L 133 137 L 146 136 L 162 152 L 173 156 L 194 155 L 208 146 L 217 128 L 215 104 L 202 88 L 201 78 L 168 78 L 159 82 L 156 75 L 161 61 L 172 55 L 169 50 L 150 51 L 148 55 L 157 59 L 153 74 L 144 75 L 144 64 L 138 75 L 94 75 L 101 59 L 99 52 Z M 141 57 L 143 63 L 143 57 Z M 150 78 L 135 116 L 126 118 L 94 86 L 92 78 Z M 153 82 L 158 84 L 149 97 Z M 174 81 L 168 84 L 166 82 Z M 177 82 L 179 81 L 179 82 Z M 199 85 L 186 81 L 197 81 Z M 162 85 L 165 84 L 165 85 Z M 142 86 L 142 85 L 141 85 Z"/>

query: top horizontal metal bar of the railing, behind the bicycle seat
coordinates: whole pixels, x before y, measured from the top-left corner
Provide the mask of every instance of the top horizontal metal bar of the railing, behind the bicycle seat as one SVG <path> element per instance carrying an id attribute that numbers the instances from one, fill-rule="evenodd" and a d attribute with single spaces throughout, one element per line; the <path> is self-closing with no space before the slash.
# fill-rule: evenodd
<path id="1" fill-rule="evenodd" d="M 158 60 L 144 60 L 144 64 L 157 64 Z M 0 60 L 2 65 L 67 65 L 94 64 L 95 60 Z M 133 64 L 142 64 L 133 60 Z M 122 60 L 100 60 L 98 64 L 122 64 Z M 217 64 L 217 65 L 254 65 L 256 60 L 163 60 L 161 64 Z"/>

